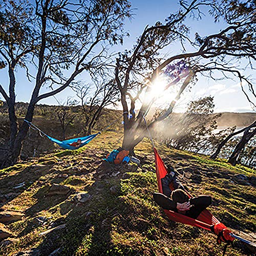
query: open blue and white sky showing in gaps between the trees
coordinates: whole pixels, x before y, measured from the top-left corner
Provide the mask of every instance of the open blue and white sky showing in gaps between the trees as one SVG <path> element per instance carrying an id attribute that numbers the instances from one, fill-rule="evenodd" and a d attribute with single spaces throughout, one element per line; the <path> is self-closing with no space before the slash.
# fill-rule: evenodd
<path id="1" fill-rule="evenodd" d="M 177 10 L 178 1 L 170 0 L 132 0 L 132 8 L 134 9 L 134 16 L 131 20 L 126 20 L 124 31 L 130 33 L 130 37 L 124 39 L 122 46 L 115 46 L 115 51 L 122 51 L 125 49 L 131 49 L 136 38 L 140 36 L 146 25 L 154 25 L 158 20 L 164 22 L 164 19 L 173 11 Z M 215 24 L 210 16 L 205 16 L 203 22 L 201 21 L 189 21 L 191 36 L 195 32 L 199 32 L 201 36 L 207 35 L 209 31 L 211 33 L 219 32 L 223 23 Z M 190 49 L 188 49 L 190 50 Z M 167 54 L 178 54 L 181 53 L 180 45 L 173 45 L 165 50 Z M 34 83 L 31 83 L 26 78 L 26 70 L 18 68 L 16 70 L 16 101 L 28 102 L 30 100 L 31 92 L 33 90 Z M 252 75 L 252 72 L 246 72 L 247 75 Z M 85 82 L 90 78 L 88 75 L 84 74 L 80 76 Z M 254 76 L 255 78 L 255 76 Z M 8 91 L 8 76 L 6 70 L 0 70 L 0 83 Z M 47 92 L 47 88 L 42 88 L 40 93 Z M 242 93 L 239 80 L 218 80 L 214 81 L 209 78 L 199 77 L 198 82 L 183 93 L 177 106 L 175 112 L 184 112 L 186 105 L 191 100 L 196 100 L 199 97 L 204 96 L 214 96 L 215 100 L 215 112 L 252 112 L 253 109 L 246 99 L 246 96 Z M 67 97 L 73 97 L 74 92 L 71 89 L 66 89 L 65 91 L 44 100 L 39 103 L 44 104 L 58 104 L 58 102 L 64 102 Z M 174 97 L 174 92 L 170 91 L 160 101 L 165 99 L 171 99 Z M 3 97 L 0 95 L 0 99 Z M 164 101 L 165 101 L 164 100 Z M 58 102 L 57 102 L 58 101 Z M 139 105 L 136 106 L 139 108 Z M 120 108 L 120 106 L 119 106 Z"/>

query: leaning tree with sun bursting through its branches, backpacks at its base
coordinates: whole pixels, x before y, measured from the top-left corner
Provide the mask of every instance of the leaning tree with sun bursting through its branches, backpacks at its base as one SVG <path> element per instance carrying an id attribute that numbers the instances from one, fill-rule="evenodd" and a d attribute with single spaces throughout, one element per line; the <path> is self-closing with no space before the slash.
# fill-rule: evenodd
<path id="1" fill-rule="evenodd" d="M 147 26 L 133 49 L 120 53 L 116 59 L 115 79 L 121 95 L 124 121 L 122 147 L 126 150 L 133 150 L 146 135 L 143 119 L 157 97 L 153 96 L 151 100 L 144 97 L 137 114 L 135 104 L 143 93 L 149 95 L 155 92 L 154 88 L 159 86 L 159 79 L 164 75 L 166 86 L 163 93 L 174 84 L 179 85 L 179 90 L 175 99 L 169 101 L 166 110 L 148 124 L 149 130 L 173 112 L 181 94 L 196 81 L 199 73 L 211 75 L 212 72 L 220 71 L 224 75 L 236 75 L 241 86 L 242 81 L 246 82 L 249 92 L 245 93 L 253 104 L 255 93 L 252 83 L 236 65 L 243 60 L 252 66 L 252 60 L 255 60 L 255 1 L 180 0 L 179 4 L 180 9 L 170 14 L 165 23 L 157 22 L 152 27 Z M 213 16 L 215 22 L 223 20 L 226 27 L 206 36 L 196 33 L 195 38 L 191 38 L 186 24 L 189 19 L 204 22 L 202 10 Z M 182 52 L 177 55 L 166 54 L 162 58 L 161 51 L 177 42 Z M 141 130 L 144 132 L 139 133 Z"/>

